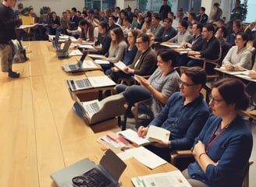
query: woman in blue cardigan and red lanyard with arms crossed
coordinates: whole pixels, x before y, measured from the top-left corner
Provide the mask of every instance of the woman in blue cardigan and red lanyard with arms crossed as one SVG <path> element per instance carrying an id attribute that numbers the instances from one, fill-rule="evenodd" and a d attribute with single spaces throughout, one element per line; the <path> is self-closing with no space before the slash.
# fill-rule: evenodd
<path id="1" fill-rule="evenodd" d="M 239 79 L 226 78 L 212 84 L 208 118 L 192 152 L 196 162 L 183 175 L 194 186 L 242 186 L 251 156 L 251 130 L 239 115 L 249 98 Z"/>

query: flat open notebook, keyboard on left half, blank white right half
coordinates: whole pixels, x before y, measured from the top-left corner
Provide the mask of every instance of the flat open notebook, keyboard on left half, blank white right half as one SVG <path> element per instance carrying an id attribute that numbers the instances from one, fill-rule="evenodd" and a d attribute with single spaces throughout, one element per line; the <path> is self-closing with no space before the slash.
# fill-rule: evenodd
<path id="1" fill-rule="evenodd" d="M 66 83 L 71 91 L 116 85 L 116 83 L 108 76 L 91 76 L 85 79 L 68 79 L 66 80 Z"/>

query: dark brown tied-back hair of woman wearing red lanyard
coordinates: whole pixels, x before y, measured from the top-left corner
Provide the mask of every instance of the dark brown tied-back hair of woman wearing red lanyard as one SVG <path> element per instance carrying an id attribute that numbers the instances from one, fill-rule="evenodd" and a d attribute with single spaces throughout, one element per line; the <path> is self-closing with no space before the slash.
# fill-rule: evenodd
<path id="1" fill-rule="evenodd" d="M 227 104 L 235 104 L 237 110 L 245 110 L 249 106 L 250 100 L 245 92 L 245 85 L 240 79 L 220 79 L 212 84 L 212 88 L 217 88 L 223 100 Z"/>

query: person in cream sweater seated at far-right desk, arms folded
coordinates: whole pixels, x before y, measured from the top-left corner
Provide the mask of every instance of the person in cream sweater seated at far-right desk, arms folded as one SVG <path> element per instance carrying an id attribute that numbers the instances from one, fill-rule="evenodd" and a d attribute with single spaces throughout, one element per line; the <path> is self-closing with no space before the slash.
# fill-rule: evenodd
<path id="1" fill-rule="evenodd" d="M 226 70 L 251 69 L 251 51 L 246 48 L 247 40 L 247 34 L 236 34 L 236 45 L 229 49 L 222 62 Z"/>

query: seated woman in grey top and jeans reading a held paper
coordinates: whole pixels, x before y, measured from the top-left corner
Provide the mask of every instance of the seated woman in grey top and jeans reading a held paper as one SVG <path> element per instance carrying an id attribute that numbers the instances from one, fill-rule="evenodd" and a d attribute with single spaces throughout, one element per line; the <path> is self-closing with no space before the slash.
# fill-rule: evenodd
<path id="1" fill-rule="evenodd" d="M 159 51 L 157 56 L 158 69 L 153 72 L 149 79 L 137 76 L 140 86 L 117 85 L 117 93 L 123 93 L 126 102 L 131 106 L 138 101 L 153 98 L 149 105 L 151 118 L 154 118 L 162 110 L 169 97 L 179 90 L 180 76 L 173 68 L 177 64 L 174 51 Z"/>

